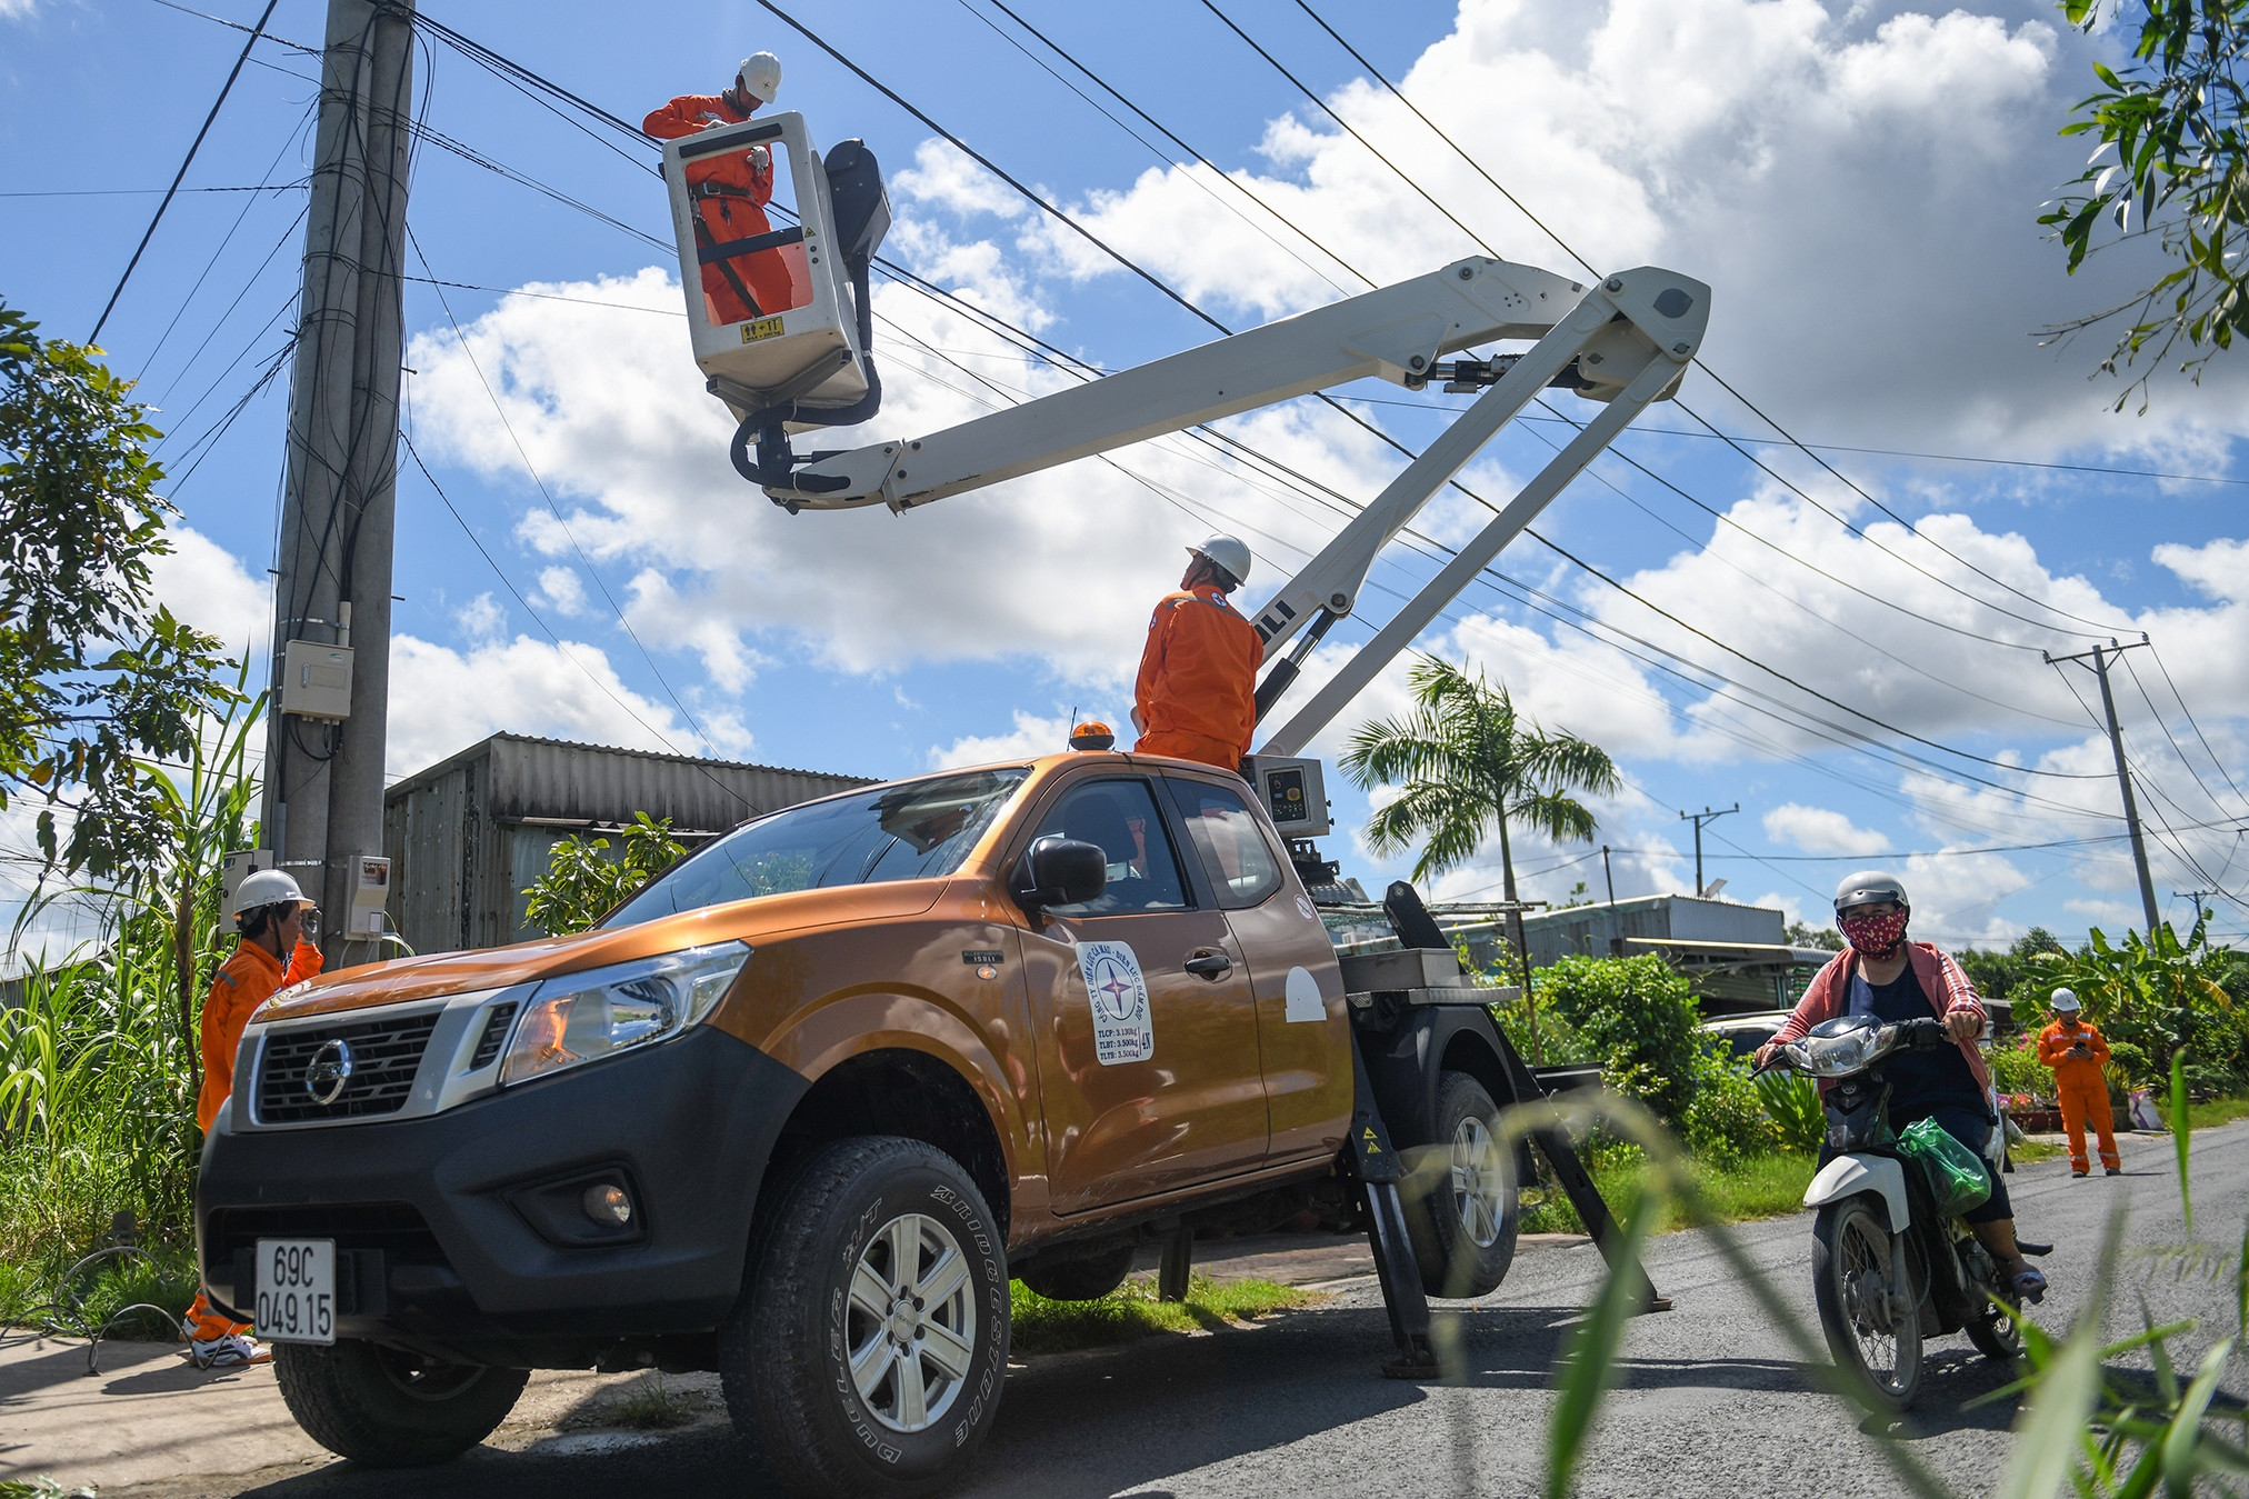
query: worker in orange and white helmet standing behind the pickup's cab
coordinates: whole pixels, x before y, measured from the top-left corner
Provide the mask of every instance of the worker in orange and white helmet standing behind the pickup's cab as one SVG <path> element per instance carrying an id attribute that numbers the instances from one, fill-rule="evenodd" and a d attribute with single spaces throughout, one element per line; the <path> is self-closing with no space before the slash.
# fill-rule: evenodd
<path id="1" fill-rule="evenodd" d="M 1187 548 L 1176 593 L 1147 623 L 1131 726 L 1136 755 L 1176 755 L 1239 771 L 1257 730 L 1257 667 L 1264 636 L 1226 596 L 1250 575 L 1250 548 L 1210 537 Z"/>

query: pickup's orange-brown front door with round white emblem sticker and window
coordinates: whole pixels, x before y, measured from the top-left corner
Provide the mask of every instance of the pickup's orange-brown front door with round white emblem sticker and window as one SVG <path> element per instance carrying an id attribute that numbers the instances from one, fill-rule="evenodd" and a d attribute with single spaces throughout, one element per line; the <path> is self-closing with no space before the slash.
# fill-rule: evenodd
<path id="1" fill-rule="evenodd" d="M 1109 854 L 1098 901 L 1055 906 L 1023 933 L 1053 1209 L 1255 1169 L 1266 1101 L 1248 966 L 1226 912 L 1196 903 L 1154 787 L 1077 782 L 1023 847 L 1048 834 Z"/>

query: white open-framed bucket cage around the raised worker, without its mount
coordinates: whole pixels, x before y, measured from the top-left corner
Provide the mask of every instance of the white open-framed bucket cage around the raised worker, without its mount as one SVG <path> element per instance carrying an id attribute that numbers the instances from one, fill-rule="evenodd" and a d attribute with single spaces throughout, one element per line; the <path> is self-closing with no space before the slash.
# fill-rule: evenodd
<path id="1" fill-rule="evenodd" d="M 742 182 L 767 173 L 769 200 L 758 202 Z M 819 409 L 866 396 L 850 245 L 837 243 L 828 166 L 805 117 L 783 110 L 666 142 L 663 182 L 695 364 L 735 418 L 749 402 Z M 888 202 L 877 211 L 888 227 Z M 798 222 L 785 222 L 787 214 Z"/>

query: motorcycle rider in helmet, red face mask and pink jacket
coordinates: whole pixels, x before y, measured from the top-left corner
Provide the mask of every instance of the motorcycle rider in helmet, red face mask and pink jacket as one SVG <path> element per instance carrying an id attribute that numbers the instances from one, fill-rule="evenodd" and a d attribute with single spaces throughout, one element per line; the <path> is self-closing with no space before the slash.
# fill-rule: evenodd
<path id="1" fill-rule="evenodd" d="M 1952 1047 L 1898 1052 L 1882 1065 L 1889 1079 L 1889 1128 L 1903 1133 L 1909 1124 L 1936 1119 L 1948 1135 L 1975 1151 L 1984 1162 L 1990 1198 L 1961 1218 L 1990 1250 L 2015 1294 L 2038 1301 L 2047 1294 L 2047 1277 L 2022 1259 L 2006 1182 L 1984 1157 L 1990 1130 L 1997 1128 L 1990 1108 L 1990 1068 L 1977 1047 L 1984 1034 L 1984 1000 L 1948 953 L 1927 942 L 1905 939 L 1909 919 L 1912 901 L 1898 876 L 1880 870 L 1846 876 L 1835 888 L 1835 926 L 1849 946 L 1813 975 L 1788 1023 L 1756 1050 L 1756 1065 L 1770 1065 L 1781 1045 L 1801 1041 L 1815 1025 L 1837 1016 L 1943 1020 Z"/>

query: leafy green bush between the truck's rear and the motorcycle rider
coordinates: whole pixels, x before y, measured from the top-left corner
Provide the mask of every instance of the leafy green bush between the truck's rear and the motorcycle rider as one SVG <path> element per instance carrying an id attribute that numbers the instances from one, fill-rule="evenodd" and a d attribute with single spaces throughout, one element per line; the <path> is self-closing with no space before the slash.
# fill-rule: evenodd
<path id="1" fill-rule="evenodd" d="M 1583 1043 L 1601 1081 L 1678 1124 L 1702 1074 L 1702 1014 L 1687 980 L 1662 957 L 1570 955 L 1534 978 Z M 1514 1038 L 1509 1034 L 1509 1038 Z"/>

